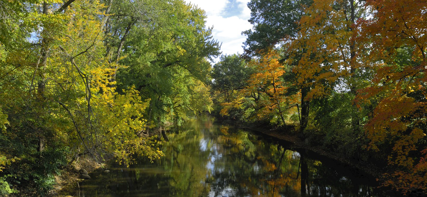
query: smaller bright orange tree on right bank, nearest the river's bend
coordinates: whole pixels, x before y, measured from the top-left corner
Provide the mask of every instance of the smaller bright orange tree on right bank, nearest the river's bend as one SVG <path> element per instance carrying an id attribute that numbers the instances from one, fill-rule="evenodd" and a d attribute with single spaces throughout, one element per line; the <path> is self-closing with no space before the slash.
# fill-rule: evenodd
<path id="1" fill-rule="evenodd" d="M 283 80 L 286 65 L 279 62 L 277 51 L 267 51 L 262 57 L 249 62 L 253 74 L 247 81 L 247 86 L 239 91 L 231 102 L 222 103 L 221 113 L 226 115 L 231 108 L 241 104 L 251 105 L 248 118 L 257 114 L 254 120 L 268 119 L 278 125 L 286 126 L 289 115 L 296 115 L 298 95 L 287 96 L 288 84 Z"/>

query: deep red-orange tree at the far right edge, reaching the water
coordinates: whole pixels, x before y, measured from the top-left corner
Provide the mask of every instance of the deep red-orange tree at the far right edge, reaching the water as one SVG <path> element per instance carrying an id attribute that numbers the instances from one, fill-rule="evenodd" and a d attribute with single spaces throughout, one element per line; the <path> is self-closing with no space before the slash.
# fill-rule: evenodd
<path id="1" fill-rule="evenodd" d="M 378 102 L 365 125 L 369 148 L 389 152 L 394 179 L 386 185 L 426 190 L 427 2 L 368 0 L 366 8 L 373 15 L 358 22 L 357 40 L 369 47 L 360 58 L 375 75 L 359 99 Z"/>

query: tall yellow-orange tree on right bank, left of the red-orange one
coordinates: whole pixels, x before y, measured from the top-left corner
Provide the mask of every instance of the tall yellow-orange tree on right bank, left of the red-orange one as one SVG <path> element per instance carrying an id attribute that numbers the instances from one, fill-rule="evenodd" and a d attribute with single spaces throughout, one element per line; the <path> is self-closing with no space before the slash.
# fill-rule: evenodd
<path id="1" fill-rule="evenodd" d="M 307 125 L 312 99 L 322 99 L 338 89 L 353 96 L 360 86 L 358 63 L 360 51 L 354 40 L 354 21 L 363 17 L 363 1 L 314 0 L 298 22 L 300 30 L 285 43 L 289 65 L 301 88 L 301 132 Z M 356 108 L 356 106 L 354 106 Z M 351 117 L 354 130 L 359 130 L 357 114 Z"/>

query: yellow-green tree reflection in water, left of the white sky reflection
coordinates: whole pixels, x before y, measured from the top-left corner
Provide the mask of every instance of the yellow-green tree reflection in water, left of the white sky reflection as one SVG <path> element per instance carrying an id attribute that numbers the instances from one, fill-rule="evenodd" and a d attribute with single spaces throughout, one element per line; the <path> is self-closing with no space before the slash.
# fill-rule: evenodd
<path id="1" fill-rule="evenodd" d="M 163 149 L 166 156 L 159 164 L 170 176 L 170 196 L 207 196 L 209 188 L 204 182 L 208 174 L 206 163 L 211 143 L 207 143 L 203 150 L 200 141 L 211 128 L 200 122 L 193 122 L 187 127 L 190 129 L 170 135 L 171 143 Z"/>

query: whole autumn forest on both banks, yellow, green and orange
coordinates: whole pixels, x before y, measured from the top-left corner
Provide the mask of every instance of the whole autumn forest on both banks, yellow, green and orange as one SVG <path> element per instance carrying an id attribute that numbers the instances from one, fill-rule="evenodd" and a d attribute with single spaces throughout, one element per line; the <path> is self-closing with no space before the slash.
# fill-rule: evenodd
<path id="1" fill-rule="evenodd" d="M 201 113 L 426 194 L 427 1 L 247 6 L 243 54 L 221 54 L 183 0 L 0 0 L 0 196 L 47 196 L 82 157 L 155 162 L 160 136 Z"/>

